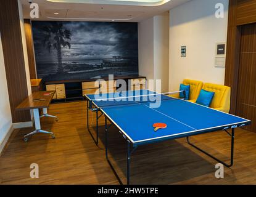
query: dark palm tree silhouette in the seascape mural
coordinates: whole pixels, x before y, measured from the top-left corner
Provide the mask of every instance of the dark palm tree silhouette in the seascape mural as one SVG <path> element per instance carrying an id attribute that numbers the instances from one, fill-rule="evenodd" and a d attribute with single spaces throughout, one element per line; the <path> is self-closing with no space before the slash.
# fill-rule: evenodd
<path id="1" fill-rule="evenodd" d="M 49 52 L 51 52 L 52 47 L 57 51 L 58 58 L 58 73 L 63 73 L 64 68 L 62 66 L 62 48 L 70 49 L 71 36 L 70 30 L 66 30 L 63 27 L 62 22 L 52 22 L 49 26 L 43 26 L 43 32 L 45 33 L 43 39 L 43 45 Z"/>

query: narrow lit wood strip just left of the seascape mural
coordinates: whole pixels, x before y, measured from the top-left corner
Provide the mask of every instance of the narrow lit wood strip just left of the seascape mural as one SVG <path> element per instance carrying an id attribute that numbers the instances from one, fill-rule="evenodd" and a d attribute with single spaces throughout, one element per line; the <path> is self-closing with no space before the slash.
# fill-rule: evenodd
<path id="1" fill-rule="evenodd" d="M 33 43 L 33 33 L 31 29 L 31 20 L 24 19 L 24 27 L 26 34 L 27 50 L 28 50 L 28 65 L 30 67 L 30 79 L 36 79 L 36 63 L 35 63 L 35 50 Z"/>

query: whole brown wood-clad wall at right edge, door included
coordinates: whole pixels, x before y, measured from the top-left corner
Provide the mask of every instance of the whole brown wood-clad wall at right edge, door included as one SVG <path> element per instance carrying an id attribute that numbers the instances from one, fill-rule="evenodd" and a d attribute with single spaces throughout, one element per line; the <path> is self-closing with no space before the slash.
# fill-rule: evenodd
<path id="1" fill-rule="evenodd" d="M 225 84 L 230 86 L 231 113 L 252 120 L 256 126 L 256 1 L 229 0 Z M 250 25 L 251 24 L 251 25 Z"/>

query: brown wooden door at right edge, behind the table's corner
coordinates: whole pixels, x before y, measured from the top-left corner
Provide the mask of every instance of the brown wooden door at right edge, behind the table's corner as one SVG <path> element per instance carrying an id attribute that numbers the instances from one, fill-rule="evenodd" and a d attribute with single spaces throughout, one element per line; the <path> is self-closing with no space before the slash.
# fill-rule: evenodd
<path id="1" fill-rule="evenodd" d="M 242 26 L 236 114 L 252 120 L 246 129 L 256 132 L 256 23 Z"/>

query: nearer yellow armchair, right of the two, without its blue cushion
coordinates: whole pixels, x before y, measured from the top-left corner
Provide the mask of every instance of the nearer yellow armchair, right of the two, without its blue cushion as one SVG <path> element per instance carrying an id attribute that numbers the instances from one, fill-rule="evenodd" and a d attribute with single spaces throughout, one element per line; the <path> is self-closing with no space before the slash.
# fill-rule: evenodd
<path id="1" fill-rule="evenodd" d="M 210 108 L 229 113 L 231 88 L 218 84 L 205 83 L 202 89 L 215 92 Z"/>

